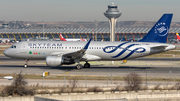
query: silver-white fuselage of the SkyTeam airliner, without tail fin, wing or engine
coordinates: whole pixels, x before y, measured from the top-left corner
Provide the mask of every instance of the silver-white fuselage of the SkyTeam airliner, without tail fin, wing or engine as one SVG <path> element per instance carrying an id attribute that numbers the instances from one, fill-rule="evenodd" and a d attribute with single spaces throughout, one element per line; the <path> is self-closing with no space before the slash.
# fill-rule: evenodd
<path id="1" fill-rule="evenodd" d="M 4 51 L 6 56 L 20 59 L 41 59 L 47 56 L 71 53 L 84 47 L 87 42 L 63 42 L 63 41 L 28 41 L 14 44 Z M 155 50 L 151 47 L 166 46 Z M 14 48 L 15 46 L 15 48 Z M 82 57 L 97 56 L 95 60 L 124 60 L 142 57 L 162 51 L 174 49 L 175 46 L 164 43 L 149 42 L 91 42 L 86 54 Z"/>

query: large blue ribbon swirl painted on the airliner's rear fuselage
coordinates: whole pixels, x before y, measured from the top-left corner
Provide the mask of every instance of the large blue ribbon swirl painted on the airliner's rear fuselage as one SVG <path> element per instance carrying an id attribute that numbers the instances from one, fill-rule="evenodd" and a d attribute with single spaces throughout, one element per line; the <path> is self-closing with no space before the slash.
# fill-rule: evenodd
<path id="1" fill-rule="evenodd" d="M 125 57 L 123 57 L 122 60 L 130 57 L 133 53 L 143 53 L 146 51 L 146 49 L 144 49 L 143 47 L 135 47 L 134 49 L 131 48 L 133 46 L 138 46 L 139 44 L 130 44 L 123 48 L 122 46 L 125 45 L 126 43 L 129 43 L 129 42 L 124 42 L 122 44 L 119 44 L 118 46 L 107 46 L 107 47 L 103 48 L 103 51 L 105 53 L 113 53 L 115 51 L 118 51 L 118 49 L 121 49 L 119 54 L 117 54 L 115 56 L 111 56 L 112 58 L 117 58 L 117 57 L 121 56 L 122 54 L 124 54 L 126 51 L 129 51 L 129 53 Z M 109 50 L 109 49 L 111 49 L 111 50 Z"/>

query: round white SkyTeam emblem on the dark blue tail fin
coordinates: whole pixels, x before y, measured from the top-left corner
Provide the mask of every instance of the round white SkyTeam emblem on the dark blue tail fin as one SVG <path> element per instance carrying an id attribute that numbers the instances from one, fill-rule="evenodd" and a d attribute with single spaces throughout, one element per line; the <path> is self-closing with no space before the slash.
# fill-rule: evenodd
<path id="1" fill-rule="evenodd" d="M 158 23 L 155 26 L 155 33 L 157 33 L 159 36 L 166 36 L 168 34 L 168 27 L 165 23 Z"/>

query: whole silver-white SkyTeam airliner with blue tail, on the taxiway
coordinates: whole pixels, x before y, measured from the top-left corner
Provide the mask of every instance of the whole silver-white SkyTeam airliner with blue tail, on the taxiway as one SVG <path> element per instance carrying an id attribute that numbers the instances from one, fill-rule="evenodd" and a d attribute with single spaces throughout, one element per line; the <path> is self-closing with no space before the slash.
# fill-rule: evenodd
<path id="1" fill-rule="evenodd" d="M 164 14 L 148 34 L 138 42 L 88 42 L 70 41 L 27 41 L 13 44 L 4 51 L 4 55 L 12 58 L 46 60 L 47 66 L 56 67 L 66 64 L 77 64 L 89 68 L 88 61 L 120 61 L 143 57 L 175 49 L 175 45 L 166 44 L 173 14 Z"/>

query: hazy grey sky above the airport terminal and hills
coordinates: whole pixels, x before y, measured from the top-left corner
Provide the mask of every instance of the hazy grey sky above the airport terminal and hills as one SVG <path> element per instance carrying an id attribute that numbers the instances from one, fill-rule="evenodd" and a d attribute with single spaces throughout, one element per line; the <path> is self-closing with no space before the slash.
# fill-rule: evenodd
<path id="1" fill-rule="evenodd" d="M 104 16 L 111 3 L 122 15 L 118 21 L 157 21 L 173 13 L 180 22 L 180 0 L 0 0 L 0 21 L 108 21 Z"/>

